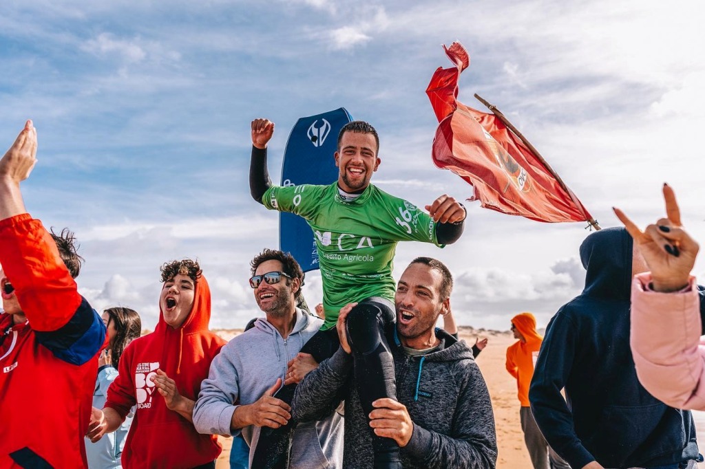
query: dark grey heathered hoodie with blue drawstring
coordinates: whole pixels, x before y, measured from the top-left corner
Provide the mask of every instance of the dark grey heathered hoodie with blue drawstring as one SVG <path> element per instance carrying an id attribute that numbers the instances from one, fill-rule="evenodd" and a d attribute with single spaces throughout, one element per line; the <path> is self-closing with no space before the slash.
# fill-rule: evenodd
<path id="1" fill-rule="evenodd" d="M 397 399 L 409 411 L 414 431 L 401 449 L 404 468 L 494 469 L 497 442 L 489 393 L 465 342 L 443 331 L 439 349 L 425 356 L 408 356 L 392 339 Z M 393 341 L 393 342 L 392 342 Z M 343 388 L 345 449 L 343 467 L 372 468 L 372 429 L 353 384 L 353 358 L 338 349 L 296 389 L 293 418 L 317 420 L 336 408 Z"/>

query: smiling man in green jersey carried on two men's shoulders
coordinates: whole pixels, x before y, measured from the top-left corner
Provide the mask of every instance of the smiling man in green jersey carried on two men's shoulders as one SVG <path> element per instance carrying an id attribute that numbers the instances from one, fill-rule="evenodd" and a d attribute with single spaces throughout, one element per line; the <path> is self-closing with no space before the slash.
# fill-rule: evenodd
<path id="1" fill-rule="evenodd" d="M 370 184 L 380 159 L 379 137 L 362 121 L 346 124 L 333 155 L 340 168 L 338 180 L 327 186 L 272 186 L 266 170 L 266 146 L 274 123 L 252 121 L 250 192 L 266 208 L 300 215 L 312 228 L 323 280 L 326 321 L 306 344 L 320 363 L 338 349 L 338 311 L 350 302 L 358 305 L 348 315 L 349 342 L 355 357 L 355 382 L 363 407 L 396 396 L 394 368 L 384 329 L 395 320 L 396 284 L 391 275 L 399 241 L 455 242 L 462 234 L 465 208 L 442 195 L 420 211 L 409 202 Z M 393 439 L 374 437 L 375 468 L 399 468 Z M 259 448 L 258 448 L 259 449 Z M 271 451 L 270 451 L 271 453 Z"/>

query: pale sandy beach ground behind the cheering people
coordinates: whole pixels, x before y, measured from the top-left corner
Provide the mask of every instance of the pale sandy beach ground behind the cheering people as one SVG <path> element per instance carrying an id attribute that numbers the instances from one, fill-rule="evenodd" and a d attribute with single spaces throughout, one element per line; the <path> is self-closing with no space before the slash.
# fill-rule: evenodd
<path id="1" fill-rule="evenodd" d="M 231 339 L 238 331 L 219 331 L 221 337 Z M 494 408 L 494 418 L 497 428 L 497 458 L 498 469 L 531 468 L 529 454 L 524 445 L 524 436 L 519 423 L 519 400 L 517 399 L 517 384 L 504 368 L 505 352 L 510 344 L 515 342 L 510 332 L 473 330 L 471 327 L 460 327 L 460 339 L 468 344 L 474 344 L 475 337 L 488 337 L 489 344 L 477 358 L 477 364 L 482 370 Z M 699 442 L 705 442 L 705 413 L 694 413 L 698 428 Z M 221 437 L 223 453 L 216 463 L 217 469 L 228 469 L 231 439 Z M 702 450 L 701 450 L 702 452 Z"/>

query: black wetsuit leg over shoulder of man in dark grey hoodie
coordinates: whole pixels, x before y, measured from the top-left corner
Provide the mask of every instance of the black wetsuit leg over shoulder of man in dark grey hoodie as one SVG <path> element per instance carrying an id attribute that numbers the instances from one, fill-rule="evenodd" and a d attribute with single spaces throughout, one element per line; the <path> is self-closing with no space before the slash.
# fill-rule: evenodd
<path id="1" fill-rule="evenodd" d="M 389 397 L 396 400 L 394 359 L 385 331 L 394 327 L 396 315 L 390 301 L 371 297 L 360 301 L 345 323 L 355 361 L 355 387 L 365 415 L 372 402 Z M 368 417 L 369 420 L 369 417 Z M 401 469 L 399 446 L 394 439 L 378 437 L 369 427 L 374 449 L 374 469 Z"/>

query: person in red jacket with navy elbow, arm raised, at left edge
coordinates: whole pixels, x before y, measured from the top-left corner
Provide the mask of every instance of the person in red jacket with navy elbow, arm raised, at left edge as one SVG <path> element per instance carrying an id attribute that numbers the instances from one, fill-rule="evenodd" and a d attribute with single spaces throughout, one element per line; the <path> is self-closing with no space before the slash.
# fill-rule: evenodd
<path id="1" fill-rule="evenodd" d="M 28 120 L 0 160 L 0 468 L 81 468 L 105 326 L 73 280 L 73 233 L 25 210 L 36 153 Z"/>

